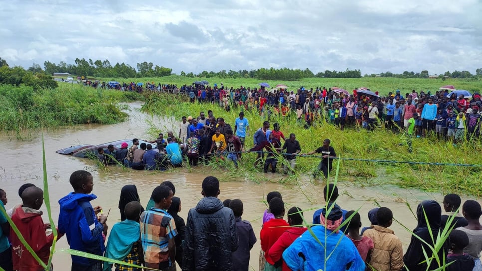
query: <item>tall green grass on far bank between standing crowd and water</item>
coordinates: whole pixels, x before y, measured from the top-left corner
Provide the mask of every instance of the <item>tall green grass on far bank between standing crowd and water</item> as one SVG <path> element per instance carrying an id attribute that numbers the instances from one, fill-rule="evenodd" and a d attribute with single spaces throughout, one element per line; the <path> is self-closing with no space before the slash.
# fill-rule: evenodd
<path id="1" fill-rule="evenodd" d="M 225 111 L 218 105 L 211 103 L 185 102 L 186 96 L 151 93 L 146 96 L 146 103 L 142 110 L 150 114 L 174 116 L 181 121 L 182 116 L 199 115 L 200 111 L 207 113 L 212 110 L 215 117 L 224 117 L 226 123 L 234 129 L 235 118 L 241 108 L 232 107 L 230 112 Z M 256 110 L 245 110 L 245 118 L 249 120 L 249 132 L 246 137 L 245 149 L 253 146 L 255 131 L 262 127 L 267 117 L 260 116 Z M 290 133 L 296 134 L 300 142 L 302 153 L 315 150 L 322 145 L 325 138 L 331 139 L 331 146 L 338 155 L 345 158 L 363 158 L 373 160 L 391 161 L 418 161 L 431 163 L 453 164 L 482 164 L 482 145 L 480 142 L 471 144 L 463 143 L 453 146 L 451 142 L 438 141 L 435 138 L 414 138 L 412 140 L 413 152 L 409 153 L 404 134 L 394 134 L 383 128 L 373 132 L 356 127 L 345 128 L 341 131 L 338 127 L 325 121 L 317 121 L 314 126 L 305 129 L 299 125 L 294 112 L 289 117 L 272 115 L 270 119 L 271 129 L 273 124 L 281 124 L 281 131 L 286 138 Z M 158 132 L 165 132 L 164 127 L 151 124 L 149 132 L 155 137 Z M 174 127 L 177 129 L 177 127 Z M 283 143 L 283 140 L 281 140 Z M 241 177 L 259 182 L 259 168 L 254 168 L 253 154 L 243 154 L 239 163 L 239 169 L 231 168 L 229 175 Z M 281 157 L 280 157 L 281 158 Z M 296 159 L 295 175 L 313 171 L 321 158 L 298 157 Z M 214 163 L 214 162 L 211 162 Z M 279 159 L 278 169 L 284 163 Z M 469 195 L 482 195 L 480 187 L 481 167 L 442 166 L 442 165 L 418 165 L 402 163 L 377 163 L 365 161 L 341 161 L 340 179 L 353 182 L 362 186 L 374 186 L 380 184 L 393 184 L 403 188 L 416 188 L 426 191 L 440 191 L 443 193 L 463 193 Z M 221 165 L 224 166 L 224 165 Z M 280 182 L 291 182 L 293 176 L 280 177 Z"/>

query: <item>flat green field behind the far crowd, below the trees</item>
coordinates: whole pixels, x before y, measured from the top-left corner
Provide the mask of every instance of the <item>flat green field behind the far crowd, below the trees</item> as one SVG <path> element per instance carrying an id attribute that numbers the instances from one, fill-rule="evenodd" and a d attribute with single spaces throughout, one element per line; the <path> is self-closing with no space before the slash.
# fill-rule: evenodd
<path id="1" fill-rule="evenodd" d="M 223 83 L 227 87 L 239 88 L 241 85 L 243 87 L 258 87 L 259 83 L 262 81 L 258 79 L 251 78 L 189 78 L 179 75 L 171 75 L 160 78 L 102 78 L 104 81 L 115 80 L 120 83 L 122 82 L 154 82 L 156 85 L 161 84 L 176 84 L 181 87 L 184 84 L 190 85 L 194 81 L 206 80 L 213 86 L 215 83 L 220 85 Z M 471 92 L 482 90 L 482 80 L 481 79 L 447 79 L 442 81 L 441 79 L 402 79 L 402 78 L 372 78 L 372 77 L 362 77 L 362 78 L 303 78 L 300 81 L 266 81 L 271 87 L 277 84 L 285 84 L 291 90 L 296 90 L 301 86 L 305 88 L 316 87 L 341 87 L 348 90 L 350 93 L 353 89 L 358 87 L 368 87 L 372 91 L 378 91 L 380 94 L 384 95 L 388 92 L 394 92 L 400 89 L 402 94 L 409 93 L 412 89 L 420 92 L 421 90 L 427 91 L 431 90 L 433 93 L 439 89 L 439 87 L 444 85 L 454 85 L 457 89 L 465 89 Z"/>

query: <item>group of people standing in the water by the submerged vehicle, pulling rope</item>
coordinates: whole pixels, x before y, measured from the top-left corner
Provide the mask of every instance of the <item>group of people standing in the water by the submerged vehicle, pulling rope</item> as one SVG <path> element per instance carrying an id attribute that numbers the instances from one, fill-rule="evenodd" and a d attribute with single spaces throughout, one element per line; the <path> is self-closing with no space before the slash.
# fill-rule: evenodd
<path id="1" fill-rule="evenodd" d="M 294 133 L 285 137 L 279 123 L 273 126 L 274 129 L 270 130 L 271 123 L 264 121 L 263 126 L 253 134 L 254 146 L 245 148 L 249 121 L 244 117 L 244 112 L 241 111 L 235 119 L 233 129 L 224 118 L 215 118 L 209 110 L 208 117 L 204 112 L 195 118 L 183 116 L 177 135 L 168 131 L 165 138 L 163 133 L 159 133 L 158 138 L 142 143 L 134 138 L 130 147 L 123 142 L 118 150 L 114 145 L 107 146 L 107 149 L 99 147 L 97 157 L 103 165 L 123 164 L 136 170 L 166 170 L 168 167 L 182 167 L 184 161 L 190 166 L 197 166 L 198 163 L 208 164 L 212 159 L 226 159 L 238 167 L 242 153 L 256 152 L 255 166 L 264 163 L 264 172 L 275 173 L 277 164 L 281 163 L 284 174 L 291 174 L 298 156 L 318 153 L 322 160 L 313 175 L 317 177 L 322 173 L 325 178 L 328 177 L 333 159 L 336 158 L 330 139 L 325 139 L 316 150 L 301 153 L 300 143 Z"/>

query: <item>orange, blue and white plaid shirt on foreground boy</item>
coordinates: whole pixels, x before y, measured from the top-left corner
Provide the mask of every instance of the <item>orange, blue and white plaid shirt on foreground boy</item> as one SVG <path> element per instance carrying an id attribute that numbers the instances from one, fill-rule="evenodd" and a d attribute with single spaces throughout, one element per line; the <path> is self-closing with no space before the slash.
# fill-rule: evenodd
<path id="1" fill-rule="evenodd" d="M 146 267 L 162 269 L 170 267 L 169 239 L 177 234 L 174 220 L 165 210 L 155 207 L 141 214 L 141 242 Z"/>

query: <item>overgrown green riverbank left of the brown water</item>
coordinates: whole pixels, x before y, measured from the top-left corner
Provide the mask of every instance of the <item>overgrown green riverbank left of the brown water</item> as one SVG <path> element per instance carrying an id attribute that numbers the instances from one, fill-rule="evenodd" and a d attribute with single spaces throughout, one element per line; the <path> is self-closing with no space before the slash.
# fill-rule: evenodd
<path id="1" fill-rule="evenodd" d="M 122 122 L 128 114 L 119 102 L 134 100 L 143 96 L 66 83 L 39 90 L 0 85 L 0 131 L 13 131 L 22 138 L 27 129 Z"/>

